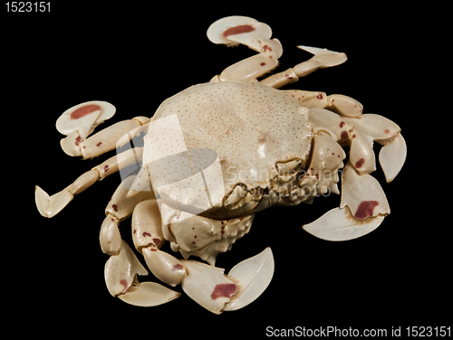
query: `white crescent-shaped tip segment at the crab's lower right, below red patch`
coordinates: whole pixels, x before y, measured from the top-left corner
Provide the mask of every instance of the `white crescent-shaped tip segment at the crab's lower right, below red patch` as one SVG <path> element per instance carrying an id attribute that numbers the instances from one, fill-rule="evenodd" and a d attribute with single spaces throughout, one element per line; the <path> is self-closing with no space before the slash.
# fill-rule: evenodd
<path id="1" fill-rule="evenodd" d="M 303 226 L 313 236 L 327 241 L 348 241 L 357 239 L 375 230 L 384 216 L 360 222 L 354 219 L 348 208 L 335 208 L 324 213 L 319 219 Z"/>

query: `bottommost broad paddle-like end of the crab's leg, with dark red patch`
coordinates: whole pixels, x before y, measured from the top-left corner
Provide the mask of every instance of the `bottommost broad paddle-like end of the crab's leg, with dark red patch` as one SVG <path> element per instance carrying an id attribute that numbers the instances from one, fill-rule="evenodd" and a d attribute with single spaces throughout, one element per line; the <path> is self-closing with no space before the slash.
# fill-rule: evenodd
<path id="1" fill-rule="evenodd" d="M 215 314 L 236 310 L 253 302 L 265 291 L 274 274 L 270 248 L 238 263 L 227 276 L 225 269 L 194 260 L 181 262 L 188 271 L 182 288 L 200 306 Z"/>

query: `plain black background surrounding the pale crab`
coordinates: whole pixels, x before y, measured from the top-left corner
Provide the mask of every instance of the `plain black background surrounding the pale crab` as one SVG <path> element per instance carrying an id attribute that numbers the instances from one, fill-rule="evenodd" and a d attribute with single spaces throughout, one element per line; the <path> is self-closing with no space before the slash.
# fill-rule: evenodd
<path id="1" fill-rule="evenodd" d="M 451 323 L 451 314 L 444 312 L 452 302 L 446 235 L 451 222 L 440 205 L 427 205 L 439 200 L 435 195 L 442 192 L 443 171 L 430 166 L 429 152 L 420 149 L 420 142 L 429 145 L 430 138 L 422 119 L 427 112 L 420 105 L 439 93 L 419 86 L 420 76 L 429 71 L 418 47 L 421 14 L 366 3 L 275 8 L 257 3 L 248 9 L 230 3 L 60 3 L 52 2 L 50 14 L 5 14 L 1 9 L 5 192 L 7 213 L 14 214 L 14 223 L 5 222 L 2 280 L 4 297 L 13 302 L 9 315 L 29 322 L 16 329 L 18 334 L 125 330 L 130 336 L 217 338 L 265 336 L 266 326 L 390 329 Z M 207 40 L 209 24 L 232 14 L 272 27 L 284 47 L 277 71 L 310 58 L 297 44 L 348 55 L 341 66 L 316 71 L 285 89 L 346 94 L 361 101 L 365 112 L 400 125 L 408 145 L 406 165 L 391 184 L 385 183 L 381 168 L 373 174 L 387 194 L 391 214 L 360 239 L 330 242 L 301 226 L 338 206 L 340 196 L 268 209 L 256 214 L 250 233 L 232 251 L 217 258 L 217 266 L 227 272 L 272 248 L 274 279 L 252 305 L 215 316 L 183 295 L 160 307 L 131 307 L 107 291 L 103 266 L 108 256 L 99 246 L 103 209 L 120 176 L 94 184 L 53 219 L 44 219 L 35 208 L 35 184 L 54 194 L 112 156 L 92 161 L 66 156 L 55 120 L 65 109 L 94 99 L 117 108 L 104 127 L 152 116 L 164 99 L 255 53 Z M 130 222 L 120 227 L 128 239 Z"/>

